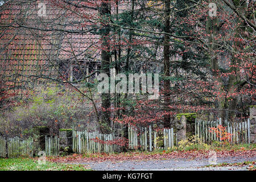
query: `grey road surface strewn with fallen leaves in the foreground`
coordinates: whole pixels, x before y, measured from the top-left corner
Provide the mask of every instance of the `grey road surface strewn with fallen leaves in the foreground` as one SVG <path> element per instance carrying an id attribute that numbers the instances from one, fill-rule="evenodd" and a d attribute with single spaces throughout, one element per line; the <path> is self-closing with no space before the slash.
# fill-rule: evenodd
<path id="1" fill-rule="evenodd" d="M 217 163 L 238 163 L 246 161 L 255 161 L 256 156 L 253 158 L 244 157 L 228 157 L 217 158 Z M 167 159 L 167 160 L 144 160 L 144 161 L 120 161 L 120 162 L 88 162 L 77 163 L 89 165 L 93 170 L 100 171 L 205 171 L 205 170 L 247 170 L 248 166 L 243 167 L 203 167 L 209 165 L 208 159 L 189 160 L 189 159 Z M 203 168 L 202 168 L 203 167 Z"/>

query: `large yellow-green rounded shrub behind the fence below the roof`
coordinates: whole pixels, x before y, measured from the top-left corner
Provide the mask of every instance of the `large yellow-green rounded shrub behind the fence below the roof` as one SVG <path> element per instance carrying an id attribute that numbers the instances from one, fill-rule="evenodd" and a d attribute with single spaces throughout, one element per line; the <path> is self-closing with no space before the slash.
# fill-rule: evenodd
<path id="1" fill-rule="evenodd" d="M 61 128 L 77 130 L 97 127 L 90 102 L 81 94 L 61 86 L 41 86 L 30 92 L 12 110 L 0 115 L 0 133 L 9 137 L 30 136 L 35 126 L 50 127 L 51 134 Z"/>

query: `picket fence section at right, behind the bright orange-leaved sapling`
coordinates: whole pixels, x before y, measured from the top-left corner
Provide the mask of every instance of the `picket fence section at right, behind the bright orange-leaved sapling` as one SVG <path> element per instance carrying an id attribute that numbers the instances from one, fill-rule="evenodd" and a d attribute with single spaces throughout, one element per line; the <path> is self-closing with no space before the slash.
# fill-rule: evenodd
<path id="1" fill-rule="evenodd" d="M 250 119 L 245 122 L 229 122 L 222 119 L 217 121 L 195 121 L 195 134 L 205 143 L 212 143 L 213 141 L 220 141 L 215 133 L 210 132 L 210 127 L 217 127 L 222 125 L 226 127 L 226 132 L 232 134 L 232 143 L 250 143 Z"/>

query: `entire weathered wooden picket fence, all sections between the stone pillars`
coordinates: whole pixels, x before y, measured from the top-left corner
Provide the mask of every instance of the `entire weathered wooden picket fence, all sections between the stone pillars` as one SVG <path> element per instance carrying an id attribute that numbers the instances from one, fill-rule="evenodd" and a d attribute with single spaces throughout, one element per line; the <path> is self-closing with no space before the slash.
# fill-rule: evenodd
<path id="1" fill-rule="evenodd" d="M 246 122 L 222 122 L 218 121 L 195 121 L 195 134 L 205 143 L 220 141 L 215 133 L 210 132 L 210 127 L 222 125 L 226 127 L 226 131 L 232 134 L 232 143 L 250 143 L 250 120 Z M 176 138 L 176 140 L 175 140 Z M 152 151 L 156 149 L 167 149 L 177 144 L 177 137 L 174 129 L 163 129 L 155 131 L 152 126 L 134 127 L 128 126 L 129 149 Z M 101 134 L 88 131 L 73 130 L 73 152 L 84 154 L 86 152 L 106 152 L 114 153 L 115 144 L 113 144 L 114 134 Z M 174 143 L 175 141 L 175 143 Z M 47 156 L 58 156 L 60 151 L 59 137 L 46 136 L 45 152 Z M 7 151 L 6 151 L 7 144 Z M 33 139 L 22 140 L 19 137 L 5 138 L 0 137 L 0 156 L 9 158 L 17 158 L 20 156 L 33 156 Z"/>

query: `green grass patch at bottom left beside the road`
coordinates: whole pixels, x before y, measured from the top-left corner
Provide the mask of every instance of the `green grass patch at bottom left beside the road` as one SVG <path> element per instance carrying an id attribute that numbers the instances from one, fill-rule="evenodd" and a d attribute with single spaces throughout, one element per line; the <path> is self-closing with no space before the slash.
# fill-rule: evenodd
<path id="1" fill-rule="evenodd" d="M 39 164 L 36 159 L 0 159 L 0 171 L 88 171 L 90 168 L 79 164 L 47 162 Z"/>

